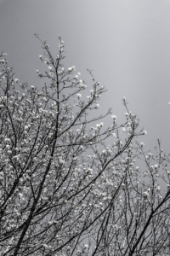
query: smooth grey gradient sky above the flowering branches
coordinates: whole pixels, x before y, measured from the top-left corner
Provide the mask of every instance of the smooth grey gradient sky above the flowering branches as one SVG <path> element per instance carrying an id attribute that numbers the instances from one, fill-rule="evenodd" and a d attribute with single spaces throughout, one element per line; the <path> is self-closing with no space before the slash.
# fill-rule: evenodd
<path id="1" fill-rule="evenodd" d="M 42 49 L 34 33 L 54 54 L 60 36 L 65 66 L 76 66 L 88 85 L 92 69 L 108 90 L 101 111 L 113 108 L 121 124 L 126 96 L 148 132 L 139 142 L 153 150 L 160 138 L 170 153 L 170 0 L 0 0 L 0 51 L 20 83 L 41 88 L 35 71 L 42 70 Z"/>

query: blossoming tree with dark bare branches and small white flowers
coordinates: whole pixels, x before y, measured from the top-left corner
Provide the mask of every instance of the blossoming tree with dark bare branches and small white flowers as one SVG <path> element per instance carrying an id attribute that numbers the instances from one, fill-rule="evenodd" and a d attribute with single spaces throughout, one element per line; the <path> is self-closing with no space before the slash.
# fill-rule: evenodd
<path id="1" fill-rule="evenodd" d="M 96 113 L 105 88 L 89 71 L 92 89 L 82 96 L 87 85 L 62 65 L 61 38 L 56 57 L 46 42 L 42 49 L 41 90 L 19 84 L 0 55 L 1 255 L 168 254 L 170 191 L 159 182 L 167 186 L 170 172 L 161 143 L 154 156 L 134 142 L 146 131 L 125 97 L 124 124 L 111 115 L 104 129 L 111 109 Z"/>

